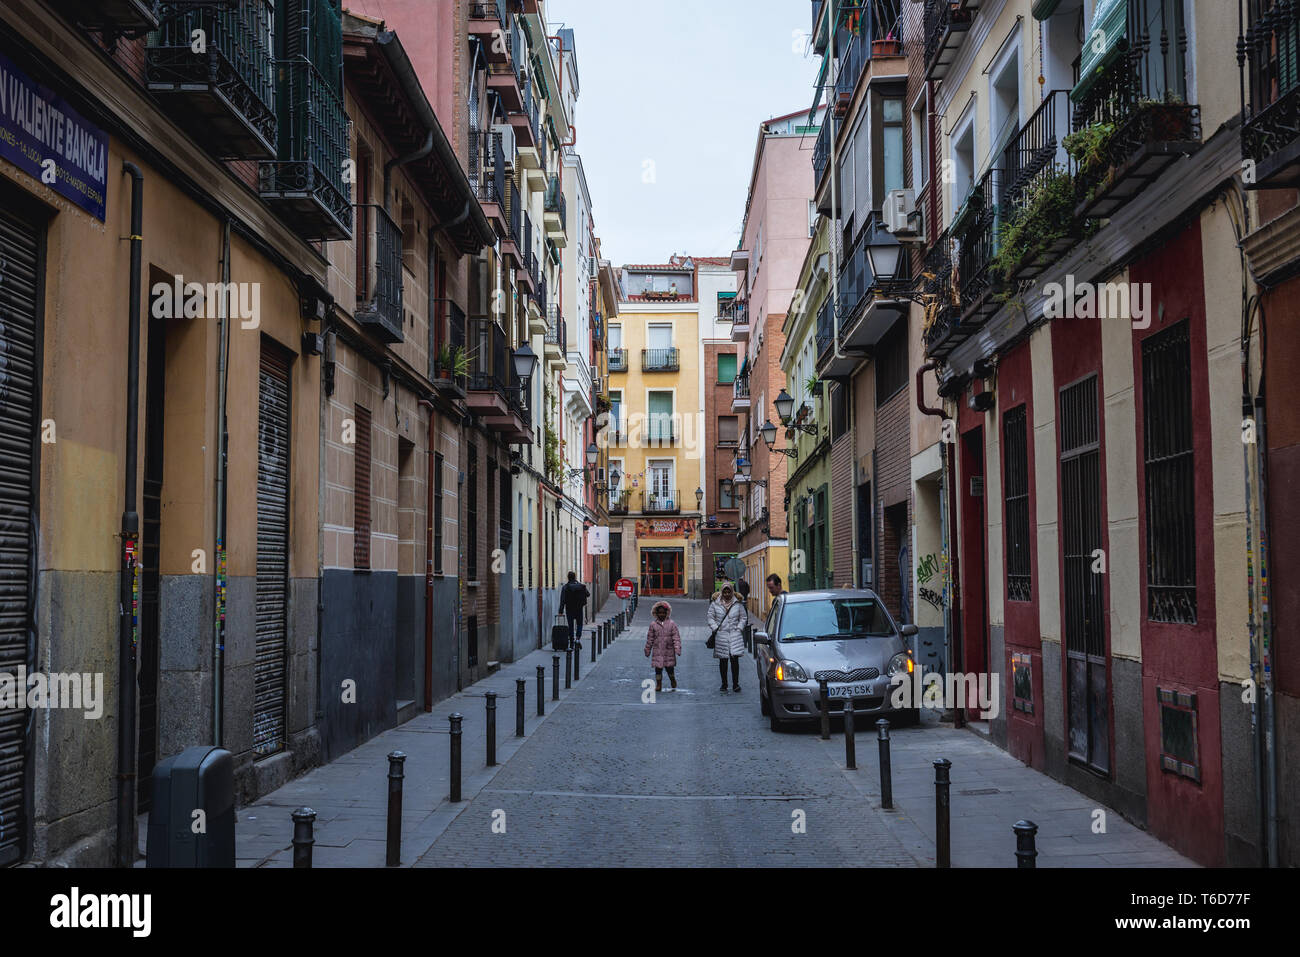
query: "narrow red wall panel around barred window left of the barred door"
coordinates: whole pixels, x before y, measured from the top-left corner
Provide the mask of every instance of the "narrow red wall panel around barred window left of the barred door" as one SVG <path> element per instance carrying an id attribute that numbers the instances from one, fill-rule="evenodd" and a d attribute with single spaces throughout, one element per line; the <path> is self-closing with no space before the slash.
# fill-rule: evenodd
<path id="1" fill-rule="evenodd" d="M 1043 753 L 1043 636 L 1039 628 L 1039 534 L 1037 534 L 1037 490 L 1034 484 L 1034 368 L 1030 359 L 1030 343 L 1022 342 L 1019 346 L 1005 354 L 997 365 L 997 406 L 998 415 L 998 449 L 1002 460 L 997 463 L 1002 476 L 1002 534 L 1006 536 L 1006 452 L 1004 421 L 1006 412 L 1024 406 L 1024 438 L 1026 459 L 1028 463 L 1030 482 L 1030 570 L 1031 590 L 1030 601 L 1010 601 L 1008 597 L 1005 607 L 1005 650 L 1001 662 L 1002 667 L 1002 701 L 1006 702 L 1006 746 L 1011 754 L 1031 767 L 1041 770 L 1044 766 Z M 1010 596 L 1008 588 L 1009 563 L 1006 549 L 1002 549 L 1002 594 Z M 1017 711 L 1013 706 L 1013 671 L 1011 655 L 1028 653 L 1032 655 L 1031 680 L 1034 687 L 1034 711 L 1026 714 Z"/>

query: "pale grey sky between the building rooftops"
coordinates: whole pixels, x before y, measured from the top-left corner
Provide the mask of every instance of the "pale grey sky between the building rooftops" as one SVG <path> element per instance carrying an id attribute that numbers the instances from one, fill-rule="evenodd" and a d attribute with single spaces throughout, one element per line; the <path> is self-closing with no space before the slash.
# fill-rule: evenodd
<path id="1" fill-rule="evenodd" d="M 549 26 L 575 31 L 577 150 L 607 259 L 736 247 L 758 124 L 812 104 L 810 18 L 806 0 L 546 4 Z"/>

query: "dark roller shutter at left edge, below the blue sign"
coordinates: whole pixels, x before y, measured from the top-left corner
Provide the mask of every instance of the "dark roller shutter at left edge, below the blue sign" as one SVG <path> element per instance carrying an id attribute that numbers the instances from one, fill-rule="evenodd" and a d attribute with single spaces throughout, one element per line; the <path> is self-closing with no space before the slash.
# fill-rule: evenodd
<path id="1" fill-rule="evenodd" d="M 0 209 L 0 671 L 34 666 L 38 230 Z M 26 688 L 18 687 L 23 694 Z M 0 710 L 0 867 L 25 853 L 31 711 Z"/>

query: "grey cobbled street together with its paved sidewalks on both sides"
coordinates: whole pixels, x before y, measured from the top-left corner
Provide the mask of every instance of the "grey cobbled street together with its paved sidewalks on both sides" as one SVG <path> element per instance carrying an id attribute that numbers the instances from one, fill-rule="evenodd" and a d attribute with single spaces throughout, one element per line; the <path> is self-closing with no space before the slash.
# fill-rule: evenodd
<path id="1" fill-rule="evenodd" d="M 1011 824 L 1039 824 L 1039 866 L 1191 866 L 1095 801 L 1026 767 L 966 729 L 893 736 L 894 810 L 880 809 L 876 737 L 859 728 L 858 770 L 844 765 L 838 723 L 774 735 L 758 707 L 753 659 L 740 694 L 720 693 L 705 648 L 705 602 L 672 602 L 682 632 L 679 690 L 646 702 L 644 655 L 653 601 L 581 677 L 551 701 L 551 651 L 536 651 L 240 809 L 240 866 L 285 867 L 289 813 L 318 814 L 318 867 L 384 865 L 386 754 L 406 752 L 403 866 L 935 866 L 935 758 L 952 770 L 952 862 L 1015 865 Z M 599 618 L 615 614 L 614 601 Z M 536 668 L 546 667 L 546 716 L 536 716 Z M 562 666 L 563 672 L 563 666 Z M 528 679 L 526 736 L 514 737 L 515 677 Z M 560 679 L 563 685 L 563 674 Z M 667 676 L 664 685 L 668 687 Z M 653 685 L 651 685 L 653 687 Z M 500 696 L 498 759 L 484 767 L 485 690 Z M 447 715 L 465 715 L 464 801 L 451 805 Z M 800 831 L 794 824 L 802 824 Z"/>

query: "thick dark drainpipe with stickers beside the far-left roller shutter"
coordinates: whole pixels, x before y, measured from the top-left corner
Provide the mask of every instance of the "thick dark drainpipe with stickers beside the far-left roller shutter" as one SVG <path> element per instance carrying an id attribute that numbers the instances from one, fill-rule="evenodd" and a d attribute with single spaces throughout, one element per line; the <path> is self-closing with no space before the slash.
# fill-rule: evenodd
<path id="1" fill-rule="evenodd" d="M 135 616 L 140 515 L 136 507 L 140 404 L 140 244 L 144 220 L 144 174 L 124 163 L 131 177 L 131 276 L 126 315 L 126 494 L 122 505 L 122 562 L 117 607 L 117 866 L 135 863 Z"/>

